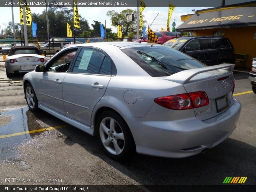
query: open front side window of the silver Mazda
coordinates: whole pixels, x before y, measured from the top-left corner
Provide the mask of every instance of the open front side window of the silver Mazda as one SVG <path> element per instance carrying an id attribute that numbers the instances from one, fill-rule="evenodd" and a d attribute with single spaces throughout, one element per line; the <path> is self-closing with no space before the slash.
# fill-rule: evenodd
<path id="1" fill-rule="evenodd" d="M 59 55 L 58 58 L 54 59 L 46 69 L 50 72 L 67 72 L 70 63 L 72 62 L 77 49 L 72 49 Z"/>

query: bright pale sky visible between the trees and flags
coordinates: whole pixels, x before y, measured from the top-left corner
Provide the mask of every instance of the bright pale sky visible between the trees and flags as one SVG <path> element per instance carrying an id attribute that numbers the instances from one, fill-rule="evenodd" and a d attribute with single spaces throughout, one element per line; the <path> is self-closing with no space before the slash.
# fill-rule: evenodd
<path id="1" fill-rule="evenodd" d="M 117 28 L 111 26 L 111 18 L 107 16 L 109 10 L 115 10 L 120 12 L 124 9 L 137 9 L 136 7 L 78 7 L 79 14 L 88 20 L 90 28 L 92 28 L 93 20 L 97 20 L 105 25 L 106 27 L 112 28 L 113 32 L 117 31 Z M 192 9 L 200 10 L 208 7 L 176 7 L 172 13 L 172 18 L 170 22 L 170 28 L 172 28 L 173 19 L 175 19 L 176 27 L 178 27 L 182 21 L 180 20 L 180 15 L 192 14 Z M 44 11 L 44 7 L 30 7 L 32 13 L 41 13 Z M 20 21 L 19 7 L 13 7 L 14 12 L 14 22 L 18 23 Z M 156 15 L 158 16 L 156 17 Z M 150 25 L 154 18 L 156 20 L 153 22 L 151 29 L 154 31 L 160 31 L 161 28 L 166 30 L 166 22 L 168 17 L 168 7 L 146 7 L 142 12 L 144 15 L 143 20 L 146 20 L 146 26 Z M 12 21 L 12 9 L 11 7 L 0 7 L 0 26 L 2 29 L 6 28 L 9 21 Z M 33 18 L 32 18 L 33 21 Z M 51 27 L 51 26 L 50 26 Z M 39 26 L 37 26 L 39 30 Z"/>

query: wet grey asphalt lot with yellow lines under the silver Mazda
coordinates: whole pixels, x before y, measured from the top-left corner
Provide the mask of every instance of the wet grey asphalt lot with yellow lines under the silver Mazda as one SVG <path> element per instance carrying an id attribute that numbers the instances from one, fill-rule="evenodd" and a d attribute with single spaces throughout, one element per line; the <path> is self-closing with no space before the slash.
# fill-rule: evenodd
<path id="1" fill-rule="evenodd" d="M 242 111 L 227 140 L 188 158 L 135 155 L 123 163 L 106 156 L 95 137 L 42 110 L 28 110 L 22 86 L 0 83 L 0 185 L 222 185 L 225 177 L 248 177 L 243 185 L 255 185 L 256 95 L 248 93 L 248 73 L 234 74 Z M 6 78 L 0 67 L 0 80 Z M 40 182 L 6 183 L 7 177 Z"/>

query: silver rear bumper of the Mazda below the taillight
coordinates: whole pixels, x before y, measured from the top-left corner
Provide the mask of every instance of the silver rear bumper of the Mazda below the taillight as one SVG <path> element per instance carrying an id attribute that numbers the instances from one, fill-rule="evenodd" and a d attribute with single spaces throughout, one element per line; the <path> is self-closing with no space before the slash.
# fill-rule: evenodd
<path id="1" fill-rule="evenodd" d="M 154 121 L 147 118 L 124 118 L 131 129 L 137 152 L 145 155 L 181 158 L 212 148 L 235 130 L 241 103 L 205 121 L 196 117 L 174 121 Z"/>

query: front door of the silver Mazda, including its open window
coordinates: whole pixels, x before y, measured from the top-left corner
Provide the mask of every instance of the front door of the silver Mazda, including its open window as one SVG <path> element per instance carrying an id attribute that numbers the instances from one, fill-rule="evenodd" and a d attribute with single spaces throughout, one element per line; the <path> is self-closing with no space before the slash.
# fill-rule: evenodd
<path id="1" fill-rule="evenodd" d="M 62 52 L 46 65 L 46 72 L 36 76 L 37 99 L 39 103 L 62 115 L 65 115 L 62 86 L 70 65 L 70 55 L 75 55 L 78 48 Z M 69 61 L 67 62 L 67 58 Z"/>

